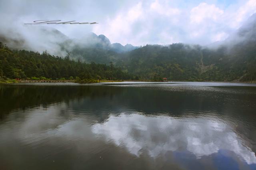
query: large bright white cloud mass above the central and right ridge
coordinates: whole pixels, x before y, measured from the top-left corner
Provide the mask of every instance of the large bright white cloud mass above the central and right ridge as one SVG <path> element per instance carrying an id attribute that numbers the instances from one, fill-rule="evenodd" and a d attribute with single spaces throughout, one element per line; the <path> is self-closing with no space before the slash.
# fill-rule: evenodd
<path id="1" fill-rule="evenodd" d="M 255 1 L 249 0 L 232 10 L 205 2 L 190 8 L 181 8 L 177 3 L 166 0 L 153 0 L 148 3 L 140 1 L 94 27 L 93 32 L 104 34 L 111 42 L 120 42 L 123 45 L 176 42 L 206 45 L 225 40 L 234 32 L 241 25 L 240 20 L 244 21 L 253 14 L 256 9 Z M 236 13 L 237 10 L 239 14 Z M 243 11 L 247 11 L 246 14 Z M 238 21 L 234 18 L 238 18 Z M 236 27 L 233 27 L 234 23 Z"/>

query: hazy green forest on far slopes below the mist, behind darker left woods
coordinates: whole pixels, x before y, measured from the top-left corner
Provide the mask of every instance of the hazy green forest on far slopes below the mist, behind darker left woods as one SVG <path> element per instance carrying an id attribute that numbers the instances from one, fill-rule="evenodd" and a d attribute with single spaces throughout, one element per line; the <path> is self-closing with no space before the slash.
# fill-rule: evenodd
<path id="1" fill-rule="evenodd" d="M 136 79 L 161 81 L 255 81 L 256 41 L 217 48 L 174 43 L 145 45 L 125 53 L 106 49 L 74 49 L 71 56 L 96 63 L 113 62 Z"/>

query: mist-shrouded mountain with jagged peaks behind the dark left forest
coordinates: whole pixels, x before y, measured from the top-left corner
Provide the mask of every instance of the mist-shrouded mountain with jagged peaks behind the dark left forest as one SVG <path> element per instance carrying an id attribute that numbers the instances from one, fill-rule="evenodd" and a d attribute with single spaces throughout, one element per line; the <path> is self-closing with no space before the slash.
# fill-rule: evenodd
<path id="1" fill-rule="evenodd" d="M 72 39 L 54 28 L 40 26 L 27 29 L 31 30 L 31 33 L 25 37 L 14 30 L 9 30 L 9 34 L 0 32 L 0 42 L 11 49 L 40 52 L 47 50 L 51 55 L 58 56 L 70 53 L 70 57 L 76 60 L 104 64 L 115 61 L 119 53 L 138 48 L 131 44 L 123 46 L 120 43 L 111 43 L 106 36 L 97 36 L 92 32 Z"/>

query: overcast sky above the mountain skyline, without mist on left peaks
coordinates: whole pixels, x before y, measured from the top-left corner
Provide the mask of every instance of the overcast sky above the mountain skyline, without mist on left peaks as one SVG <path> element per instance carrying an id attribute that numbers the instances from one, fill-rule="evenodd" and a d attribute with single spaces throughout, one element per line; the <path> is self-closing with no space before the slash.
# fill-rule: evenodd
<path id="1" fill-rule="evenodd" d="M 206 45 L 224 40 L 256 12 L 256 0 L 1 0 L 0 31 L 31 31 L 34 20 L 98 22 L 47 25 L 70 38 L 104 34 L 125 45 Z M 23 34 L 23 33 L 21 33 Z"/>

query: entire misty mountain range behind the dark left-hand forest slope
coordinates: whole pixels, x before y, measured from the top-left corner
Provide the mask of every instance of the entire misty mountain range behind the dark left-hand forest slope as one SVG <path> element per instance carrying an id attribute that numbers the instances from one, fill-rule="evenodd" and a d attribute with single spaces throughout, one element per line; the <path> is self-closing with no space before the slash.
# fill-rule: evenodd
<path id="1" fill-rule="evenodd" d="M 111 43 L 104 36 L 88 33 L 70 39 L 57 30 L 40 31 L 38 37 L 16 34 L 3 40 L 33 51 L 50 51 L 86 63 L 110 62 L 138 79 L 182 81 L 255 81 L 256 80 L 256 14 L 236 32 L 213 47 L 174 43 L 134 47 Z M 1 34 L 3 36 L 3 34 Z M 35 34 L 37 35 L 37 34 Z M 43 43 L 42 43 L 43 42 Z M 25 44 L 25 45 L 24 45 Z M 20 45 L 20 46 L 19 46 Z M 26 49 L 25 48 L 25 49 Z M 48 50 L 49 49 L 49 50 Z"/>

